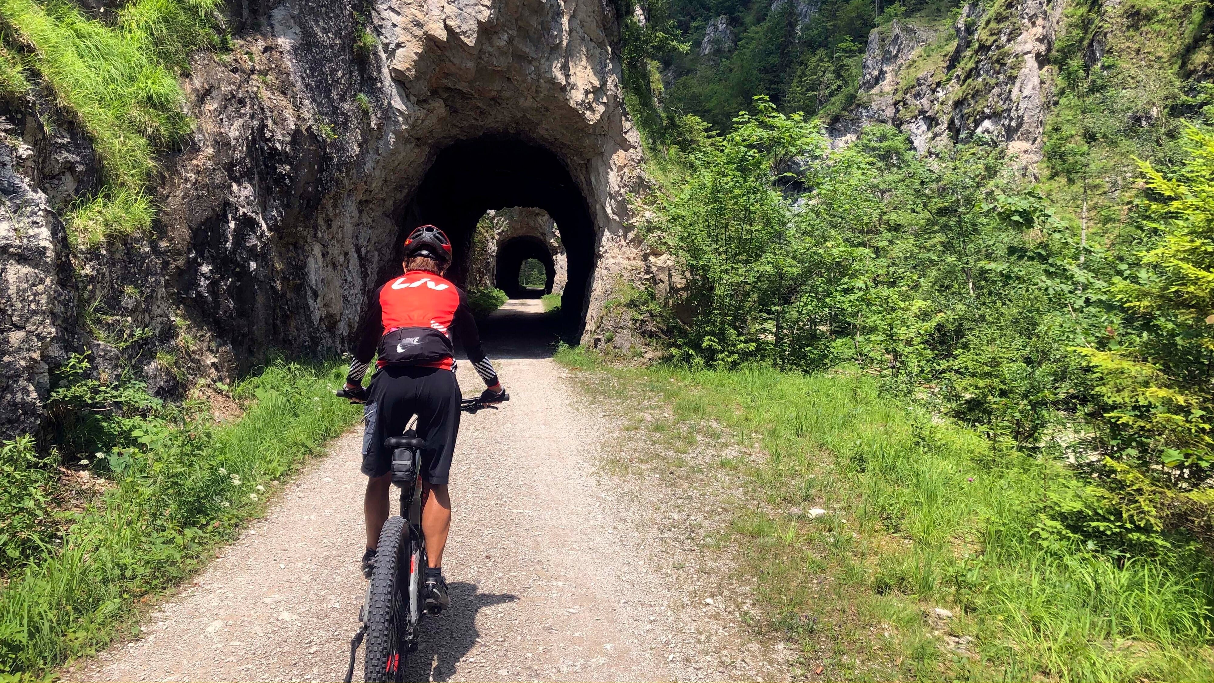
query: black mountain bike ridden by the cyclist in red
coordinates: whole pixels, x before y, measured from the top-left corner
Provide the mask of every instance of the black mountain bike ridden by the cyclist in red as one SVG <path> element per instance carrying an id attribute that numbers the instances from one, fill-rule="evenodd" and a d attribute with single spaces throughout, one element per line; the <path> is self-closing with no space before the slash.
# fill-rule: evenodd
<path id="1" fill-rule="evenodd" d="M 337 391 L 345 396 L 345 391 Z M 509 401 L 505 394 L 503 401 Z M 481 399 L 460 401 L 460 410 L 476 413 L 498 410 Z M 354 657 L 363 639 L 363 681 L 403 682 L 409 653 L 418 649 L 422 574 L 426 570 L 426 538 L 421 532 L 421 508 L 426 489 L 421 484 L 421 448 L 425 441 L 413 429 L 384 441 L 392 448 L 392 485 L 401 490 L 401 514 L 387 518 L 375 551 L 375 566 L 367 583 L 367 597 L 358 610 L 362 626 L 350 642 L 350 667 L 346 683 L 354 676 Z"/>

